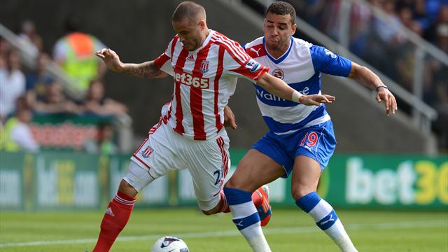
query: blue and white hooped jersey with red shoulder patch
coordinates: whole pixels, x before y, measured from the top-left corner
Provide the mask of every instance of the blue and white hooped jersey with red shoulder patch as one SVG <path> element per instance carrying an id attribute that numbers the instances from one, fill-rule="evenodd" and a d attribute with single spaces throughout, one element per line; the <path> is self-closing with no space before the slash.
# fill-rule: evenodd
<path id="1" fill-rule="evenodd" d="M 269 67 L 272 76 L 307 95 L 321 94 L 321 72 L 346 77 L 351 69 L 349 59 L 294 37 L 291 37 L 288 50 L 278 59 L 267 52 L 264 37 L 247 43 L 244 49 L 257 62 Z M 330 120 L 324 104 L 305 106 L 276 97 L 259 85 L 254 86 L 263 119 L 275 134 L 290 134 Z"/>

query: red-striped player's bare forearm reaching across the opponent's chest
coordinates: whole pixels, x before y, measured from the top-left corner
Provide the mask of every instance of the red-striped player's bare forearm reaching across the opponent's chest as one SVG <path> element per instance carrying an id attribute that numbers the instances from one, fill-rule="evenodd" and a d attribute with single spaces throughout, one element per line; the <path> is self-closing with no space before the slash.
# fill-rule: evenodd
<path id="1" fill-rule="evenodd" d="M 257 80 L 257 84 L 271 94 L 293 102 L 300 102 L 307 106 L 321 106 L 323 103 L 330 104 L 336 99 L 336 97 L 328 94 L 300 94 L 300 92 L 288 86 L 283 80 L 276 78 L 269 73 L 264 73 Z"/>

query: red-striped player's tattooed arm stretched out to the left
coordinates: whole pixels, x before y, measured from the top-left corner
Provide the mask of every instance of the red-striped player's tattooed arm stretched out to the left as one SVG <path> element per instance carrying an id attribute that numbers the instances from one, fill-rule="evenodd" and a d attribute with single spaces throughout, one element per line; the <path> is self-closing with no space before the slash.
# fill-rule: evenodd
<path id="1" fill-rule="evenodd" d="M 141 64 L 123 63 L 120 61 L 117 53 L 111 49 L 102 49 L 95 53 L 99 58 L 103 59 L 106 66 L 117 73 L 125 73 L 129 76 L 139 78 L 162 78 L 168 74 L 158 69 L 154 61 L 144 62 Z"/>

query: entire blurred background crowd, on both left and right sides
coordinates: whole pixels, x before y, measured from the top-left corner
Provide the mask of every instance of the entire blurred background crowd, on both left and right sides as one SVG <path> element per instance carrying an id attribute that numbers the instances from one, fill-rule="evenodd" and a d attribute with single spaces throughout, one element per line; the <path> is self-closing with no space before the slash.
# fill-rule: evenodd
<path id="1" fill-rule="evenodd" d="M 244 1 L 253 8 L 255 1 Z M 337 40 L 339 8 L 342 0 L 289 1 L 297 15 L 309 24 Z M 354 3 L 350 13 L 349 50 L 365 59 L 409 92 L 413 92 L 415 45 L 402 33 L 401 25 L 448 53 L 448 0 L 369 0 L 386 13 L 386 19 L 376 18 L 372 10 Z M 300 27 L 297 27 L 300 30 Z M 76 22 L 68 20 L 66 34 L 53 46 L 52 52 L 43 51 L 42 38 L 31 20 L 22 22 L 18 36 L 25 50 L 34 55 L 35 69 L 21 64 L 20 53 L 5 39 L 0 38 L 0 130 L 3 137 L 0 149 L 36 151 L 29 124 L 33 116 L 41 114 L 72 114 L 76 116 L 119 116 L 127 107 L 105 97 L 104 73 L 106 66 L 94 56 L 105 45 L 98 38 L 84 34 Z M 56 62 L 83 94 L 73 99 L 64 85 L 48 74 L 49 62 Z M 424 64 L 423 101 L 439 114 L 433 123 L 442 148 L 448 148 L 448 69 L 437 60 L 426 57 Z M 400 107 L 402 110 L 409 108 Z M 98 125 L 98 134 L 87 141 L 85 151 L 113 153 L 113 128 L 107 123 Z M 102 146 L 102 142 L 109 142 Z"/>

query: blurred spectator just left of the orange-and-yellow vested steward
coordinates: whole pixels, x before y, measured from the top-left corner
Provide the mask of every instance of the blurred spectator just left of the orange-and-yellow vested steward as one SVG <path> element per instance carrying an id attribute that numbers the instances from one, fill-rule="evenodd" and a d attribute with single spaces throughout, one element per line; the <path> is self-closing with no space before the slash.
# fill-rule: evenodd
<path id="1" fill-rule="evenodd" d="M 42 37 L 37 33 L 34 22 L 25 20 L 20 27 L 19 38 L 21 39 L 21 48 L 26 50 L 28 55 L 36 57 L 43 50 Z"/>

